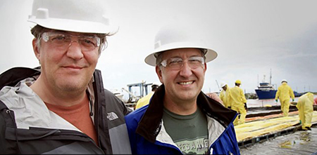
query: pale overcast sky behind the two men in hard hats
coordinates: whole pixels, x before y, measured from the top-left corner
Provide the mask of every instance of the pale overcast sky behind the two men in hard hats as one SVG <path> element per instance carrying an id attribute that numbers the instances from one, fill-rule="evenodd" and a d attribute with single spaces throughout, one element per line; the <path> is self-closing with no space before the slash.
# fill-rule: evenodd
<path id="1" fill-rule="evenodd" d="M 100 69 L 108 90 L 130 83 L 158 82 L 144 58 L 154 50 L 162 25 L 187 20 L 198 23 L 218 58 L 208 63 L 203 91 L 218 90 L 221 81 L 237 79 L 247 93 L 266 75 L 279 86 L 287 79 L 293 90 L 317 92 L 317 1 L 111 0 L 111 24 L 120 27 L 108 38 Z M 1 0 L 0 73 L 11 67 L 37 67 L 27 17 L 31 0 Z"/>

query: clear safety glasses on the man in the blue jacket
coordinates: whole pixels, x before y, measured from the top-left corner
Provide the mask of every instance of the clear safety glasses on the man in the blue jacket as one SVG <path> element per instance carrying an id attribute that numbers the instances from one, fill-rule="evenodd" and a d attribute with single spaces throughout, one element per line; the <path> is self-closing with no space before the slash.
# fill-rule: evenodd
<path id="1" fill-rule="evenodd" d="M 173 70 L 179 70 L 184 65 L 185 61 L 182 58 L 170 58 L 167 60 L 163 60 L 161 65 L 163 67 L 168 67 Z M 187 64 L 191 69 L 197 69 L 197 67 L 203 67 L 205 61 L 204 58 L 193 56 L 187 59 Z"/>

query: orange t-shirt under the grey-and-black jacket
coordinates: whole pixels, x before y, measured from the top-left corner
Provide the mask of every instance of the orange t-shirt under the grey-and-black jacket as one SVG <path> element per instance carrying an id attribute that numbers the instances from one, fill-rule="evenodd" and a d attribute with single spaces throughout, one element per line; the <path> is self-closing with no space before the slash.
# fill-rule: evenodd
<path id="1" fill-rule="evenodd" d="M 56 114 L 58 114 L 58 116 L 61 116 L 69 123 L 72 123 L 73 126 L 91 137 L 92 140 L 94 140 L 94 142 L 98 144 L 97 133 L 94 129 L 94 123 L 92 123 L 92 119 L 90 117 L 89 100 L 87 97 L 86 99 L 87 100 L 83 100 L 83 102 L 81 102 L 80 104 L 70 107 L 51 105 L 49 103 L 45 103 L 45 105 L 47 106 L 47 108 L 49 108 L 49 110 L 55 112 Z"/>

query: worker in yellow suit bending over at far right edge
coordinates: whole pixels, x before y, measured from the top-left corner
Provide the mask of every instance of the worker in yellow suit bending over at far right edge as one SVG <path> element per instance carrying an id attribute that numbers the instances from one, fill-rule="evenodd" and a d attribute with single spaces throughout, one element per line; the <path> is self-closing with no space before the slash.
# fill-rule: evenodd
<path id="1" fill-rule="evenodd" d="M 311 119 L 313 119 L 313 93 L 306 93 L 299 97 L 297 109 L 299 111 L 299 121 L 303 130 L 311 130 Z"/>

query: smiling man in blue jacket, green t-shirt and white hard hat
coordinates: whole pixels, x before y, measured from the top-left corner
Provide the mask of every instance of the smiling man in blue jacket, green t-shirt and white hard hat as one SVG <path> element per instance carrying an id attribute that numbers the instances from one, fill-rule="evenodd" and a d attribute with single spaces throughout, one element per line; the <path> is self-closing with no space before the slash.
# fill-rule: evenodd
<path id="1" fill-rule="evenodd" d="M 132 154 L 240 154 L 237 113 L 201 92 L 217 54 L 182 25 L 163 27 L 145 58 L 162 85 L 149 105 L 125 116 Z"/>

